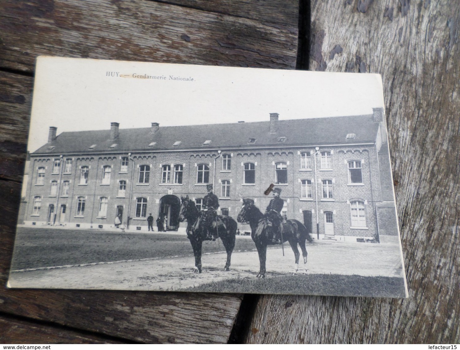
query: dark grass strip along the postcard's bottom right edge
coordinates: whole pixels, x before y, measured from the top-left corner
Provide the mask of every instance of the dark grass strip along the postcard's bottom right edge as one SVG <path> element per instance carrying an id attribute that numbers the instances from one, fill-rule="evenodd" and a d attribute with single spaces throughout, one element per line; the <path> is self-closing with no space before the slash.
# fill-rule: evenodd
<path id="1" fill-rule="evenodd" d="M 276 277 L 231 278 L 183 289 L 184 292 L 308 294 L 403 298 L 404 280 L 398 277 L 357 275 L 282 275 Z"/>

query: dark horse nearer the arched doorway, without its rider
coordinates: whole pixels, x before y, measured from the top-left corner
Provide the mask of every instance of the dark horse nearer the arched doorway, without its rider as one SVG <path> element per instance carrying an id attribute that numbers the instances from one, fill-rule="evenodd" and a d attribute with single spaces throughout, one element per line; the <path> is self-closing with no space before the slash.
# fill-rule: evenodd
<path id="1" fill-rule="evenodd" d="M 206 233 L 201 229 L 201 225 L 194 229 L 196 220 L 200 217 L 200 212 L 195 206 L 195 202 L 189 199 L 189 196 L 181 196 L 179 221 L 184 222 L 187 219 L 187 237 L 192 244 L 193 254 L 195 255 L 195 272 L 201 273 L 201 244 L 207 240 Z M 227 263 L 225 264 L 224 271 L 230 271 L 230 259 L 233 248 L 235 247 L 235 236 L 238 224 L 235 220 L 228 216 L 220 216 L 219 219 L 224 222 L 224 227 L 219 227 L 217 230 L 218 236 L 222 239 L 225 250 L 227 251 Z"/>

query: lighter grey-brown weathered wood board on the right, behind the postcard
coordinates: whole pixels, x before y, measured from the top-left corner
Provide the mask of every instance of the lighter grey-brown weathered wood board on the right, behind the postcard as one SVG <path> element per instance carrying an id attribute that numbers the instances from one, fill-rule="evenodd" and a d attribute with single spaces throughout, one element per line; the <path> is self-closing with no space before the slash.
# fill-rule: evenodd
<path id="1" fill-rule="evenodd" d="M 310 69 L 383 76 L 409 298 L 266 295 L 248 343 L 460 342 L 459 32 L 458 1 L 311 1 Z"/>

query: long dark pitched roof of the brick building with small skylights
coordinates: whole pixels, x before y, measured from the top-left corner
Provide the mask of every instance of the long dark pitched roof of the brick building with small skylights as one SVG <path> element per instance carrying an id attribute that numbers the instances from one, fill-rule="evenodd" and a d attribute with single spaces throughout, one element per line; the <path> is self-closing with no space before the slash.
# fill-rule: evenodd
<path id="1" fill-rule="evenodd" d="M 110 130 L 64 132 L 56 140 L 34 153 L 101 153 L 114 151 L 189 150 L 259 148 L 263 146 L 327 145 L 375 142 L 379 123 L 372 115 L 279 120 L 276 133 L 270 133 L 270 122 L 241 122 L 120 129 L 115 140 Z M 349 133 L 356 136 L 347 139 Z M 279 138 L 285 138 L 284 140 Z M 250 143 L 250 139 L 255 139 Z M 209 144 L 205 141 L 211 140 Z M 173 144 L 181 141 L 179 145 Z M 156 142 L 153 146 L 149 144 Z M 116 144 L 114 146 L 114 144 Z M 90 149 L 90 147 L 93 148 Z M 112 146 L 112 147 L 110 147 Z M 52 148 L 53 147 L 53 148 Z"/>

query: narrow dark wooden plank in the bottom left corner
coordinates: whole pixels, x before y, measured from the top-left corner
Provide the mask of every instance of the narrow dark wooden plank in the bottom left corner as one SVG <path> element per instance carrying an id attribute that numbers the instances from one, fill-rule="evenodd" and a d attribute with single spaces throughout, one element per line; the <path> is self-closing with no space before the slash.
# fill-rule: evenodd
<path id="1" fill-rule="evenodd" d="M 121 340 L 56 327 L 52 324 L 27 322 L 0 316 L 0 343 L 2 344 L 123 344 Z"/>

